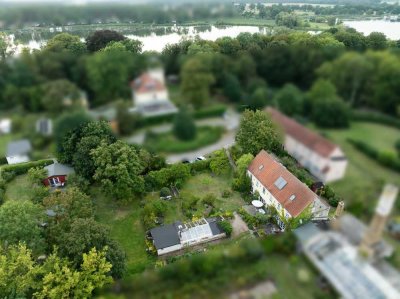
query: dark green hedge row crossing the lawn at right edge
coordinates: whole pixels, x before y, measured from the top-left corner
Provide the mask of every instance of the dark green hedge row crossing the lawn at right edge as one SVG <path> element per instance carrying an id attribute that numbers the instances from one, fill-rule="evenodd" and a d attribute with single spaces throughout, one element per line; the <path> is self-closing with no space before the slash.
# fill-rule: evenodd
<path id="1" fill-rule="evenodd" d="M 400 159 L 396 156 L 396 154 L 379 151 L 363 141 L 354 139 L 347 139 L 347 141 L 360 152 L 364 153 L 382 166 L 400 172 Z"/>

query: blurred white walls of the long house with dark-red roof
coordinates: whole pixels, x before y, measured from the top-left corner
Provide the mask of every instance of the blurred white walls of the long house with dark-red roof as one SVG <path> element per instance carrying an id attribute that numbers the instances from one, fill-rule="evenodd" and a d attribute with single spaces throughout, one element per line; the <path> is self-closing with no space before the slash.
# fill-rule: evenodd
<path id="1" fill-rule="evenodd" d="M 301 165 L 325 183 L 339 180 L 345 175 L 348 162 L 339 147 L 336 147 L 328 157 L 323 157 L 286 134 L 285 149 Z"/>

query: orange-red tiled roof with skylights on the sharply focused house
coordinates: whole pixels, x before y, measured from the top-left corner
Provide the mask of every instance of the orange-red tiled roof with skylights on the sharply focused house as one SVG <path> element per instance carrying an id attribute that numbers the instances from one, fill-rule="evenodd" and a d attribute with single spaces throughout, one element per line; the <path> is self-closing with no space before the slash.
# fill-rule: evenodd
<path id="1" fill-rule="evenodd" d="M 304 183 L 264 150 L 258 153 L 250 163 L 248 170 L 268 189 L 292 217 L 297 217 L 317 197 Z M 287 182 L 281 190 L 275 186 L 275 182 L 279 177 L 282 177 Z M 293 200 L 290 199 L 292 195 L 296 196 Z"/>

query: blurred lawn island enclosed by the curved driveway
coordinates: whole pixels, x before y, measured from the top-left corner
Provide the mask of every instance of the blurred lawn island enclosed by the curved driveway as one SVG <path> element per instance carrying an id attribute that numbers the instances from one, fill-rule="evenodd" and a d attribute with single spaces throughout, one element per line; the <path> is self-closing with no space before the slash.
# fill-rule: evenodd
<path id="1" fill-rule="evenodd" d="M 144 146 L 161 153 L 183 153 L 217 142 L 223 133 L 222 127 L 198 127 L 196 138 L 183 141 L 175 137 L 173 132 L 151 133 L 145 139 Z"/>

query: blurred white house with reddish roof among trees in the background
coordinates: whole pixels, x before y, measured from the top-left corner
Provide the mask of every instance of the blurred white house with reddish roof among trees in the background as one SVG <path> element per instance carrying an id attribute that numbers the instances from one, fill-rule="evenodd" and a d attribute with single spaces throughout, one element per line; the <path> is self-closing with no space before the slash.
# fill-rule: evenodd
<path id="1" fill-rule="evenodd" d="M 152 69 L 131 83 L 133 109 L 145 117 L 176 113 L 178 109 L 169 100 L 164 71 Z"/>

